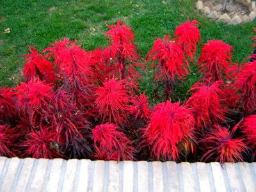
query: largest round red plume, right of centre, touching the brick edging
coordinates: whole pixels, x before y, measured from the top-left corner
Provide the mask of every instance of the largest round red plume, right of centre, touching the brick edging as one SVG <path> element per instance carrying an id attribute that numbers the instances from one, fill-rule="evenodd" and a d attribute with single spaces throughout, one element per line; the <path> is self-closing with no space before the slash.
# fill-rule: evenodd
<path id="1" fill-rule="evenodd" d="M 188 108 L 167 100 L 154 107 L 151 116 L 147 128 L 142 129 L 142 145 L 152 145 L 152 157 L 177 161 L 182 150 L 193 150 L 195 120 Z"/>

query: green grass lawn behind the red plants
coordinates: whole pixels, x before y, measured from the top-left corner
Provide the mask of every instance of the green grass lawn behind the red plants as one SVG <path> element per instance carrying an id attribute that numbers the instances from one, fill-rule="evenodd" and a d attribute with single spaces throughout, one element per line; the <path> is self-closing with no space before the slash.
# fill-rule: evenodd
<path id="1" fill-rule="evenodd" d="M 154 43 L 154 37 L 172 35 L 188 17 L 202 23 L 202 44 L 212 38 L 223 40 L 234 47 L 234 61 L 237 62 L 252 53 L 250 46 L 255 35 L 255 22 L 241 26 L 212 22 L 195 11 L 193 0 L 1 1 L 0 28 L 1 31 L 10 28 L 11 33 L 0 33 L 0 86 L 19 83 L 24 65 L 21 55 L 29 52 L 29 45 L 42 51 L 49 43 L 65 36 L 77 39 L 86 50 L 104 47 L 107 43 L 104 33 L 108 30 L 104 22 L 114 24 L 122 19 L 134 29 L 140 54 L 145 56 Z M 152 72 L 149 71 L 141 89 L 145 90 L 150 82 Z M 188 86 L 193 82 L 188 81 Z"/>

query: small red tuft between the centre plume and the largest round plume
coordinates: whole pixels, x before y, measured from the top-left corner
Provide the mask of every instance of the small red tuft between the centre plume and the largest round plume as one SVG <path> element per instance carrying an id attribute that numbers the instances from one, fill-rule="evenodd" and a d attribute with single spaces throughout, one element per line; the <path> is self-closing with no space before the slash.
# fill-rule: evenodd
<path id="1" fill-rule="evenodd" d="M 131 106 L 129 111 L 132 115 L 135 115 L 135 120 L 138 118 L 143 120 L 148 120 L 151 112 L 148 108 L 148 97 L 145 95 L 145 92 L 140 94 L 140 96 L 136 95 L 136 97 L 132 97 L 131 102 L 134 106 Z"/>

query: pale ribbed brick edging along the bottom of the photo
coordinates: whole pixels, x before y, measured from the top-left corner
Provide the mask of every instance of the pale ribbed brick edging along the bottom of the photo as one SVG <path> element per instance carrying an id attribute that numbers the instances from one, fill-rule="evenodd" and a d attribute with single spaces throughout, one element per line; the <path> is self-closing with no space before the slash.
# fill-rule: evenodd
<path id="1" fill-rule="evenodd" d="M 0 191 L 256 191 L 256 163 L 0 157 Z"/>

